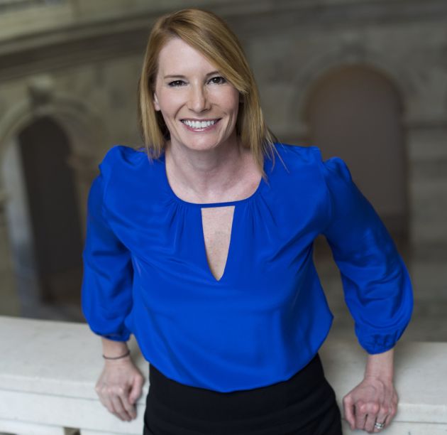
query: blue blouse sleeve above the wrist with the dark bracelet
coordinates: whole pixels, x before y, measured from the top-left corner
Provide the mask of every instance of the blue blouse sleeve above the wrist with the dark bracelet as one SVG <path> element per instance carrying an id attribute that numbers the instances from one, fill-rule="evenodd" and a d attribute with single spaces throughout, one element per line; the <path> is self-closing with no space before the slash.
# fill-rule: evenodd
<path id="1" fill-rule="evenodd" d="M 82 311 L 92 331 L 109 340 L 126 341 L 125 320 L 132 308 L 133 267 L 128 249 L 104 218 L 104 175 L 89 192 L 87 237 L 82 258 Z"/>

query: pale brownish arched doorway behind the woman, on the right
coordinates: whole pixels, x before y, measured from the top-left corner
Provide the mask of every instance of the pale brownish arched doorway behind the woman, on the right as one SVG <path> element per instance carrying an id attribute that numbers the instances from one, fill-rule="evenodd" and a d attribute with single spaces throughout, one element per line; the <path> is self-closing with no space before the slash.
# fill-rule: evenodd
<path id="1" fill-rule="evenodd" d="M 339 156 L 394 240 L 407 241 L 409 213 L 402 103 L 384 75 L 363 65 L 326 73 L 307 100 L 309 142 Z"/>

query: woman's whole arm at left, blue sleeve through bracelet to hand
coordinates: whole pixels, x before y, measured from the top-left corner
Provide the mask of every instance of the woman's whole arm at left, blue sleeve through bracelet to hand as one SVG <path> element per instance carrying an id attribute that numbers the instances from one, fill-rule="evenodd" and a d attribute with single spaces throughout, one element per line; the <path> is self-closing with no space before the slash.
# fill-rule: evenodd
<path id="1" fill-rule="evenodd" d="M 87 237 L 84 246 L 82 310 L 94 333 L 102 338 L 103 355 L 116 358 L 128 351 L 130 331 L 126 318 L 133 306 L 131 254 L 118 240 L 104 217 L 104 173 L 94 180 L 89 193 Z M 105 171 L 107 173 L 108 167 Z M 105 360 L 96 383 L 99 399 L 122 420 L 136 417 L 143 376 L 131 357 Z"/>

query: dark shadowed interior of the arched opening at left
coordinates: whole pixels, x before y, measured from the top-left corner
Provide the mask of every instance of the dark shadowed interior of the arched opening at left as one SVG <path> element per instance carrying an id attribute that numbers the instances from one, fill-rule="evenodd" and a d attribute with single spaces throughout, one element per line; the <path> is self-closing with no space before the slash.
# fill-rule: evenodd
<path id="1" fill-rule="evenodd" d="M 82 231 L 73 171 L 67 161 L 70 140 L 52 118 L 38 117 L 18 134 L 18 153 L 40 298 L 53 304 L 79 304 Z M 11 220 L 11 225 L 16 221 Z"/>

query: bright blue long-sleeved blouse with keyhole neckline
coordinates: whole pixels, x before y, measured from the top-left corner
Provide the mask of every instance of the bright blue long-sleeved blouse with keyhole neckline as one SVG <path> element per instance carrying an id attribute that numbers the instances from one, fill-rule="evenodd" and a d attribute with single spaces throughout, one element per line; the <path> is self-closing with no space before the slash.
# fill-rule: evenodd
<path id="1" fill-rule="evenodd" d="M 312 259 L 324 234 L 341 272 L 355 333 L 368 353 L 394 346 L 409 323 L 412 287 L 394 243 L 338 158 L 276 144 L 249 198 L 178 198 L 165 156 L 114 146 L 89 193 L 82 308 L 94 333 L 136 335 L 145 358 L 184 385 L 219 392 L 289 379 L 331 328 Z M 234 205 L 218 281 L 204 246 L 205 207 Z"/>

